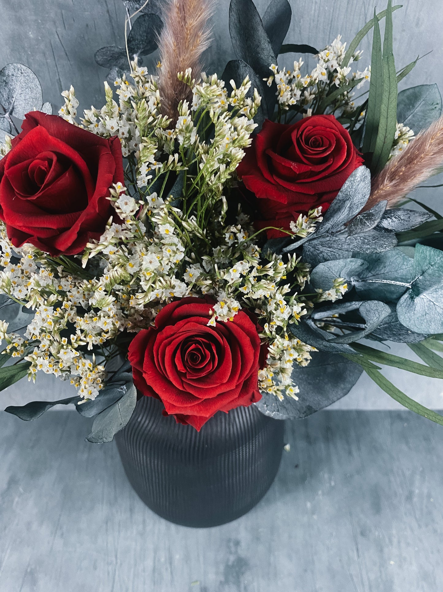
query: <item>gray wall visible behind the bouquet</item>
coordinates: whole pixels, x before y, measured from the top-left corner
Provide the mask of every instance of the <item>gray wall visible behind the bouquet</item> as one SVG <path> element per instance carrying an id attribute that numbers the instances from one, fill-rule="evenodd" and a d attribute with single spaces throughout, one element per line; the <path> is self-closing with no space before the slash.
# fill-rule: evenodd
<path id="1" fill-rule="evenodd" d="M 350 43 L 357 31 L 372 17 L 375 0 L 289 0 L 292 22 L 286 42 L 308 43 L 318 49 L 337 34 Z M 255 0 L 260 14 L 268 0 Z M 395 2 L 393 3 L 395 4 Z M 399 69 L 417 54 L 432 52 L 401 83 L 402 88 L 437 82 L 443 92 L 443 4 L 441 0 L 403 0 L 395 12 L 394 53 Z M 377 11 L 385 2 L 377 3 Z M 229 0 L 216 0 L 213 17 L 213 46 L 206 53 L 207 72 L 223 72 L 234 57 L 228 30 Z M 43 100 L 50 101 L 54 112 L 62 104 L 61 91 L 72 84 L 80 109 L 103 104 L 103 80 L 106 69 L 97 66 L 93 55 L 103 46 L 124 46 L 125 10 L 122 0 L 0 0 L 0 69 L 9 62 L 31 67 L 40 79 Z M 364 50 L 359 69 L 370 62 L 371 36 L 360 45 Z M 152 55 L 150 62 L 157 56 Z M 291 66 L 292 56 L 283 56 L 280 65 Z M 307 67 L 311 67 L 307 60 Z M 146 59 L 145 65 L 149 65 Z M 434 177 L 428 184 L 443 182 Z M 416 198 L 443 213 L 440 189 L 418 189 Z M 393 345 L 393 352 L 416 359 L 406 346 Z M 443 382 L 414 374 L 386 369 L 386 376 L 409 396 L 432 408 L 443 408 Z M 35 386 L 24 380 L 0 395 L 1 408 L 30 400 L 68 396 L 72 387 L 54 377 L 39 375 Z M 362 375 L 350 394 L 334 408 L 401 408 L 388 395 Z"/>

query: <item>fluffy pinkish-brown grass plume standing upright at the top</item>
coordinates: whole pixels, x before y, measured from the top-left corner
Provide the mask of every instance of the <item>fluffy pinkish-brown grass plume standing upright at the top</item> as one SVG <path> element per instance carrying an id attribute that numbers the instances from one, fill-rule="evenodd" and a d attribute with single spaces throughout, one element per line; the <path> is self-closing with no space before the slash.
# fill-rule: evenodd
<path id="1" fill-rule="evenodd" d="M 210 42 L 211 0 L 171 0 L 165 9 L 165 25 L 159 40 L 161 70 L 159 91 L 163 115 L 176 121 L 180 101 L 190 100 L 192 91 L 177 78 L 177 72 L 191 68 L 201 72 L 201 54 Z"/>

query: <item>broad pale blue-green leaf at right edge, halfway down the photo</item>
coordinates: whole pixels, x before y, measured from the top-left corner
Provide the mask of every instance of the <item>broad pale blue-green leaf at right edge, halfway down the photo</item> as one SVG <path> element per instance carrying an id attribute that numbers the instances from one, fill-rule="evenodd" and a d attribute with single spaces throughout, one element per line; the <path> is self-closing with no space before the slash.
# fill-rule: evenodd
<path id="1" fill-rule="evenodd" d="M 417 244 L 411 289 L 400 298 L 400 323 L 416 333 L 443 332 L 443 252 Z"/>

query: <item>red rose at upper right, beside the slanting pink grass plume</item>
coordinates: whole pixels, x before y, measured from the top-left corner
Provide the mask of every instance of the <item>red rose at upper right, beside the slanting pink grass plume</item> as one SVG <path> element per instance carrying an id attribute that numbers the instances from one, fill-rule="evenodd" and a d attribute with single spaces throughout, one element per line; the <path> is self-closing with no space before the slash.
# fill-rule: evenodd
<path id="1" fill-rule="evenodd" d="M 258 228 L 283 227 L 299 214 L 327 210 L 348 176 L 363 163 L 334 115 L 312 115 L 285 125 L 266 120 L 237 168 L 259 198 Z M 268 230 L 268 238 L 287 236 Z"/>

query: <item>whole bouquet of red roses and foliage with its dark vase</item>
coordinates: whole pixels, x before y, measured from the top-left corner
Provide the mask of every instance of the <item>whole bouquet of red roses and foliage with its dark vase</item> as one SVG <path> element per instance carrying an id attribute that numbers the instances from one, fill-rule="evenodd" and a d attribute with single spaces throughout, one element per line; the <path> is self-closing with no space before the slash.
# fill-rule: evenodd
<path id="1" fill-rule="evenodd" d="M 221 76 L 200 61 L 209 2 L 149 2 L 125 2 L 126 47 L 96 53 L 115 91 L 79 120 L 72 87 L 52 115 L 30 69 L 0 71 L 0 388 L 69 380 L 73 397 L 6 411 L 74 403 L 89 442 L 116 435 L 149 506 L 211 525 L 271 485 L 276 420 L 333 403 L 363 370 L 443 424 L 378 365 L 443 378 L 443 220 L 407 197 L 443 164 L 442 101 L 437 85 L 398 92 L 418 59 L 396 70 L 390 0 L 321 50 L 283 43 L 288 0 L 263 18 L 231 0 L 237 59 Z M 157 46 L 152 74 L 141 56 Z"/>

